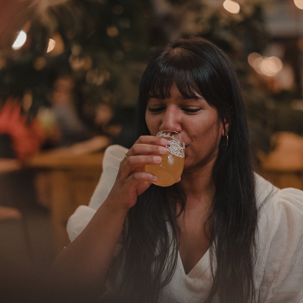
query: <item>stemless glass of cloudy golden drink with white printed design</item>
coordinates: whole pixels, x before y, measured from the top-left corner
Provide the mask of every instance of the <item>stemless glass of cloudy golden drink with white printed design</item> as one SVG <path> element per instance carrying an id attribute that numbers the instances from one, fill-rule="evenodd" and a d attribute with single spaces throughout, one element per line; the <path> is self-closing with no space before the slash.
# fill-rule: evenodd
<path id="1" fill-rule="evenodd" d="M 170 186 L 175 184 L 181 177 L 184 167 L 185 142 L 182 135 L 174 131 L 158 132 L 157 137 L 168 140 L 167 153 L 162 155 L 159 164 L 145 165 L 145 171 L 152 173 L 159 179 L 153 184 L 158 186 Z"/>

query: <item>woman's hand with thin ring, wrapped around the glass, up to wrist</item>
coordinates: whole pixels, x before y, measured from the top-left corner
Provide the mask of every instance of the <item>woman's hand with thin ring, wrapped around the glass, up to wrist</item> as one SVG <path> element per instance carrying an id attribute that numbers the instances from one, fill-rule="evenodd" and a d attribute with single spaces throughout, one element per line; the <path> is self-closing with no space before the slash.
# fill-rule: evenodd
<path id="1" fill-rule="evenodd" d="M 160 163 L 160 156 L 167 152 L 167 144 L 165 138 L 141 136 L 128 150 L 127 158 L 121 161 L 115 184 L 105 203 L 126 210 L 134 206 L 137 196 L 146 191 L 151 182 L 158 181 L 158 177 L 145 172 L 145 165 Z"/>

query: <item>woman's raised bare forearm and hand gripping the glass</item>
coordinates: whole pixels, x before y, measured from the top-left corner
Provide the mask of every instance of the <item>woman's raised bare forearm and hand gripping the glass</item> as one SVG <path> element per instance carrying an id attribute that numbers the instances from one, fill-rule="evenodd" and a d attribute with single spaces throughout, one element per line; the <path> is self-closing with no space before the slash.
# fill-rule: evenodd
<path id="1" fill-rule="evenodd" d="M 80 235 L 57 256 L 52 268 L 54 288 L 60 294 L 67 293 L 68 302 L 95 301 L 100 297 L 128 210 L 138 195 L 158 180 L 145 172 L 145 165 L 160 163 L 167 144 L 168 140 L 155 136 L 137 140 L 128 150 L 128 158 L 121 161 L 108 197 Z"/>

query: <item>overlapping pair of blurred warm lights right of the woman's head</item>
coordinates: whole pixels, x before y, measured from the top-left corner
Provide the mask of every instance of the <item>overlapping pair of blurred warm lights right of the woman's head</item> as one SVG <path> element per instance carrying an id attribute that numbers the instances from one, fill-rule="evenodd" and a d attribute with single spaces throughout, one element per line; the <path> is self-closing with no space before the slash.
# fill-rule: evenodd
<path id="1" fill-rule="evenodd" d="M 282 61 L 275 56 L 265 57 L 258 53 L 251 53 L 248 58 L 249 65 L 260 74 L 268 77 L 276 75 L 283 67 Z"/>

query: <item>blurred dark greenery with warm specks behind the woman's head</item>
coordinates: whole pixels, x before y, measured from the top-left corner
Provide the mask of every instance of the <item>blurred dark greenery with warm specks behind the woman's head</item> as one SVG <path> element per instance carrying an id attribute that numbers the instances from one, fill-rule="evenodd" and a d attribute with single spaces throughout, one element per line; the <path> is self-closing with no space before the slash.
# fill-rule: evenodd
<path id="1" fill-rule="evenodd" d="M 140 76 L 158 47 L 181 36 L 200 35 L 231 58 L 253 144 L 267 152 L 273 132 L 302 134 L 302 111 L 291 108 L 293 98 L 276 101 L 247 62 L 248 54 L 261 53 L 270 41 L 264 7 L 273 3 L 243 0 L 239 14 L 227 12 L 220 1 L 207 0 L 70 0 L 38 9 L 32 16 L 28 41 L 0 70 L 0 100 L 22 96 L 30 89 L 29 115 L 34 116 L 48 102 L 56 75 L 69 70 L 83 95 L 82 116 L 92 119 L 88 108 L 105 103 L 119 120 L 123 108 L 135 108 Z M 46 53 L 48 39 L 55 35 L 61 37 L 64 47 L 55 55 Z M 125 123 L 134 119 L 128 113 Z"/>

